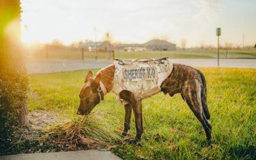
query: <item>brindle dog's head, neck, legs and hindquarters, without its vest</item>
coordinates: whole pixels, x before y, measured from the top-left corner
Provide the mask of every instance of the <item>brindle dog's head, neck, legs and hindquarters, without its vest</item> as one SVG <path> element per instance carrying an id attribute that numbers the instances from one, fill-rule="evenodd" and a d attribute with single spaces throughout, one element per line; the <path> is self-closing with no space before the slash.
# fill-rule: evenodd
<path id="1" fill-rule="evenodd" d="M 114 74 L 115 65 L 102 68 L 97 72 L 95 78 L 93 78 L 91 70 L 88 72 L 79 93 L 78 115 L 88 115 L 99 104 L 100 100 L 104 99 L 102 87 L 100 86 L 104 85 L 106 93 L 111 92 Z M 171 97 L 176 93 L 180 93 L 182 99 L 186 101 L 196 118 L 203 125 L 207 140 L 211 140 L 212 127 L 207 122 L 210 114 L 207 108 L 206 82 L 202 72 L 186 65 L 173 64 L 172 73 L 161 84 L 161 91 L 165 94 L 168 93 Z M 120 98 L 129 103 L 124 106 L 125 120 L 122 135 L 126 136 L 130 129 L 131 113 L 133 110 L 137 131 L 135 141 L 140 141 L 141 134 L 143 133 L 141 99 L 135 97 L 132 92 L 127 90 L 120 92 Z"/>

